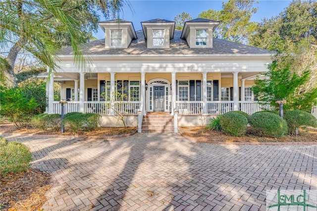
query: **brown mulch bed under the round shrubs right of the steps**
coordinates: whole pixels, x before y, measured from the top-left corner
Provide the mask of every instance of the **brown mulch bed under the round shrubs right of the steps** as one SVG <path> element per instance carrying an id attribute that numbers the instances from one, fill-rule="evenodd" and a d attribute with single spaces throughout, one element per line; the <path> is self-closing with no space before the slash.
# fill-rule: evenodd
<path id="1" fill-rule="evenodd" d="M 196 139 L 198 142 L 209 143 L 279 143 L 296 142 L 296 136 L 284 136 L 282 138 L 259 137 L 256 136 L 251 127 L 248 127 L 247 133 L 242 137 L 228 136 L 224 132 L 209 130 L 197 127 L 180 127 L 183 136 Z M 309 128 L 308 132 L 301 131 L 297 137 L 297 142 L 316 142 L 317 128 Z"/>

